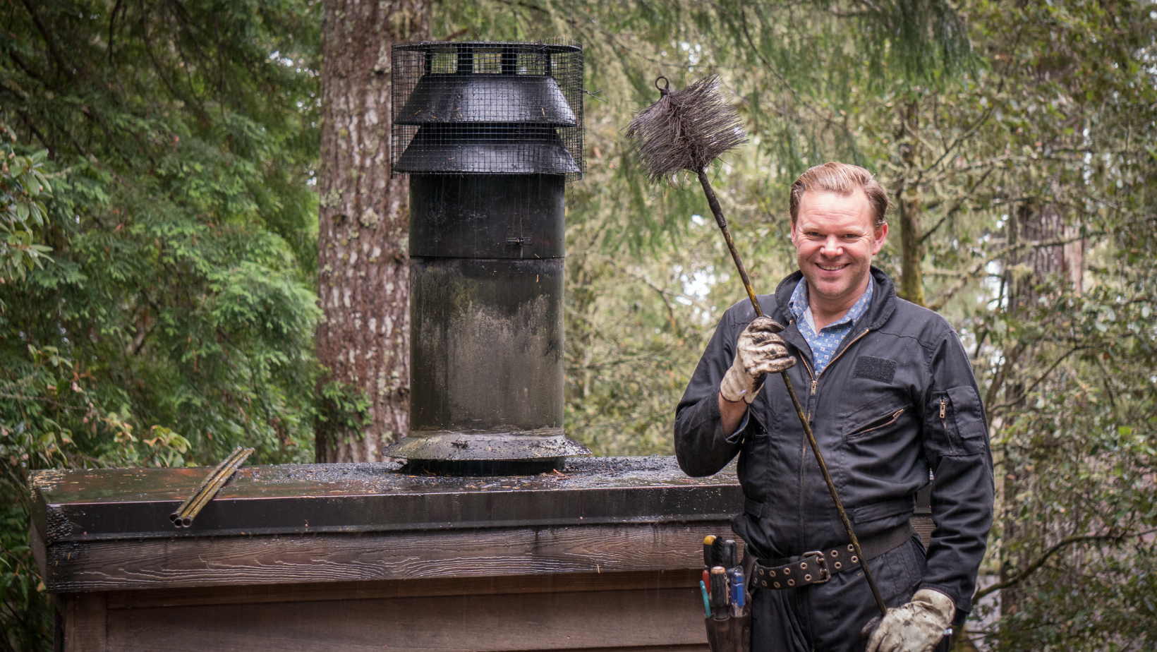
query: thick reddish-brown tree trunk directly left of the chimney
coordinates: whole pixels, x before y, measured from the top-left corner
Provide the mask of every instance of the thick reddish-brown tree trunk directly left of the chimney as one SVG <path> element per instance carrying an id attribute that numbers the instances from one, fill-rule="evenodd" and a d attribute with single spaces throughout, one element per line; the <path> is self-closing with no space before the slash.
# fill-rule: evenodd
<path id="1" fill-rule="evenodd" d="M 390 178 L 390 46 L 428 38 L 425 0 L 324 0 L 319 462 L 381 460 L 407 432 L 410 210 L 406 181 Z"/>

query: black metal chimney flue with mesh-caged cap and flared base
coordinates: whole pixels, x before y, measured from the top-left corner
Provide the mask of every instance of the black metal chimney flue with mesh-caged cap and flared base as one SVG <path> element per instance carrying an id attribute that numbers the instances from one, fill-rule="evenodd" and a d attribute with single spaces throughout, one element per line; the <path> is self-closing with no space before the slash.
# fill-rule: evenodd
<path id="1" fill-rule="evenodd" d="M 395 144 L 406 147 L 393 166 L 410 175 L 411 413 L 410 435 L 384 453 L 435 472 L 561 468 L 589 454 L 562 430 L 563 217 L 567 177 L 582 170 L 572 154 L 582 109 L 553 76 L 560 54 L 581 51 L 399 47 Z"/>

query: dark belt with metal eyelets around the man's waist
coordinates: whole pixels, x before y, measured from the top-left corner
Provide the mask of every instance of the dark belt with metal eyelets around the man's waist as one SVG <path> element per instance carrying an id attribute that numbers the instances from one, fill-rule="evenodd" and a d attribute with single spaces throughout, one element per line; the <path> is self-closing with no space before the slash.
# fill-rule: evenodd
<path id="1" fill-rule="evenodd" d="M 913 534 L 915 530 L 912 523 L 905 521 L 901 526 L 861 540 L 860 549 L 863 550 L 865 558 L 875 559 L 884 552 L 899 548 L 912 539 Z M 752 589 L 787 589 L 809 584 L 824 584 L 832 579 L 833 574 L 858 567 L 861 563 L 850 543 L 812 550 L 787 559 L 756 559 L 749 576 L 751 578 L 749 586 Z"/>

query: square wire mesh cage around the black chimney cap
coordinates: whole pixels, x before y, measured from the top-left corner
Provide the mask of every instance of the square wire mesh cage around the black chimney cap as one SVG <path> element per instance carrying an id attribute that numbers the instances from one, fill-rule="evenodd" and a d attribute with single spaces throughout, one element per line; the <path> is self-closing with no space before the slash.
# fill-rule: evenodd
<path id="1" fill-rule="evenodd" d="M 401 174 L 585 170 L 582 46 L 407 43 L 393 46 L 390 162 Z"/>

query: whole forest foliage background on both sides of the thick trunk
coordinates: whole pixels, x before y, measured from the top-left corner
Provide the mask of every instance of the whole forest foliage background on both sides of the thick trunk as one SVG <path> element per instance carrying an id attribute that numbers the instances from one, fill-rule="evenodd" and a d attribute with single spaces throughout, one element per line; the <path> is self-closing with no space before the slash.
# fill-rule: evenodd
<path id="1" fill-rule="evenodd" d="M 584 44 L 570 437 L 671 454 L 673 406 L 742 299 L 701 196 L 646 184 L 622 138 L 657 74 L 718 74 L 751 142 L 710 174 L 757 290 L 794 269 L 791 181 L 858 163 L 896 203 L 876 264 L 973 356 L 997 518 L 956 645 L 1157 645 L 1157 5 L 417 6 L 434 38 Z M 0 5 L 0 650 L 51 647 L 30 471 L 209 464 L 242 444 L 309 462 L 315 431 L 366 434 L 364 397 L 323 382 L 314 338 L 329 15 Z"/>

